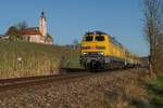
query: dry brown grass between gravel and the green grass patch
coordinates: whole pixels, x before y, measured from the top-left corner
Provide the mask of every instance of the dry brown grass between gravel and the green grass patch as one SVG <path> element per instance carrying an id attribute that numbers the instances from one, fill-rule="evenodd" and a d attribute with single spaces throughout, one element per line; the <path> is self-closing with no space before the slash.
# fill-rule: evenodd
<path id="1" fill-rule="evenodd" d="M 148 94 L 142 82 L 146 69 L 133 69 L 115 76 L 104 93 L 103 108 L 149 108 Z"/>

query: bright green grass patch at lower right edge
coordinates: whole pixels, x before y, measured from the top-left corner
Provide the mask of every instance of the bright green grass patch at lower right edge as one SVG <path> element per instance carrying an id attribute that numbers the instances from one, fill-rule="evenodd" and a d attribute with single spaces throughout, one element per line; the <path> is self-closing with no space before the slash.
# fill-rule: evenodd
<path id="1" fill-rule="evenodd" d="M 152 99 L 150 102 L 152 108 L 163 107 L 163 76 L 159 76 L 155 81 L 147 85 L 149 95 Z"/>

